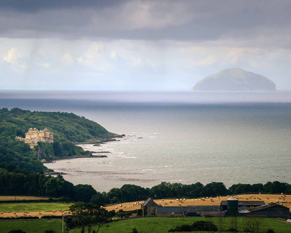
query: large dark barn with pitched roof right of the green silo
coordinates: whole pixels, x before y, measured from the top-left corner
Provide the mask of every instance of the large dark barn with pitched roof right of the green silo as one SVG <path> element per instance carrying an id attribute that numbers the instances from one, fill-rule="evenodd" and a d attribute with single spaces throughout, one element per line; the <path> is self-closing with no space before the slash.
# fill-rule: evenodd
<path id="1" fill-rule="evenodd" d="M 289 208 L 283 205 L 279 205 L 273 202 L 268 204 L 245 209 L 239 211 L 241 217 L 260 217 L 260 218 L 289 218 Z"/>

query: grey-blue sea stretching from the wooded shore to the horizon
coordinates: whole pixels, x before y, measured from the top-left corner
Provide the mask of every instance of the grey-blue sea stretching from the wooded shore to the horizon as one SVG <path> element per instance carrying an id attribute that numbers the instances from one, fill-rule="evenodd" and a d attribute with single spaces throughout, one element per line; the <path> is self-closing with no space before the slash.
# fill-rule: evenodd
<path id="1" fill-rule="evenodd" d="M 107 158 L 45 164 L 109 191 L 162 181 L 291 183 L 291 91 L 0 91 L 0 107 L 72 112 L 125 134 L 85 150 Z M 33 127 L 33 126 L 31 126 Z M 44 126 L 45 127 L 45 126 Z M 100 153 L 99 153 L 100 154 Z"/>

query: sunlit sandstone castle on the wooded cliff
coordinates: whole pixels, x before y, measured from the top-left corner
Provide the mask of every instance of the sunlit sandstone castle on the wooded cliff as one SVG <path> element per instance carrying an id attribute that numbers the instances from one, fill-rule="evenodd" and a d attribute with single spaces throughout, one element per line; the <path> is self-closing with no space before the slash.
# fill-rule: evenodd
<path id="1" fill-rule="evenodd" d="M 18 136 L 16 139 L 24 141 L 25 143 L 30 143 L 31 148 L 33 148 L 37 142 L 54 142 L 54 133 L 51 133 L 47 128 L 44 130 L 30 128 L 28 132 L 25 133 L 25 138 Z"/>

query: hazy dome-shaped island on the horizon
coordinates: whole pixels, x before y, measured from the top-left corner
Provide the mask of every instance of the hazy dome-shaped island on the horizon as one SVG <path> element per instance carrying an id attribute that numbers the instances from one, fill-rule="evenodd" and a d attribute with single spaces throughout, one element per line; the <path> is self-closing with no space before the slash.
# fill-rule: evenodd
<path id="1" fill-rule="evenodd" d="M 207 76 L 191 91 L 276 91 L 276 84 L 265 76 L 233 68 Z"/>

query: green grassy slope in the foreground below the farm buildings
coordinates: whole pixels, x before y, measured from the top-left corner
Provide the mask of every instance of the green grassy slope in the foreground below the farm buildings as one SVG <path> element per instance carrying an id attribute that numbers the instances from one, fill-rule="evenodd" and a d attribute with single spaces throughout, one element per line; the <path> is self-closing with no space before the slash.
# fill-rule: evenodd
<path id="1" fill-rule="evenodd" d="M 169 229 L 175 228 L 178 225 L 189 224 L 195 221 L 205 220 L 204 218 L 137 218 L 123 220 L 113 223 L 107 223 L 100 228 L 99 233 L 127 233 L 131 232 L 132 228 L 136 227 L 139 233 L 166 233 Z M 214 223 L 217 224 L 217 218 L 212 218 Z M 107 227 L 108 226 L 108 227 Z M 229 218 L 226 218 L 226 223 L 223 230 L 230 228 Z M 290 233 L 291 224 L 279 222 L 277 219 L 265 219 L 265 229 L 272 228 L 275 232 Z M 93 230 L 95 228 L 93 227 Z M 244 226 L 242 219 L 239 219 L 239 231 L 242 232 Z M 96 229 L 95 229 L 96 230 Z M 72 233 L 79 232 L 78 229 L 72 230 Z M 205 232 L 203 232 L 205 233 Z"/>

